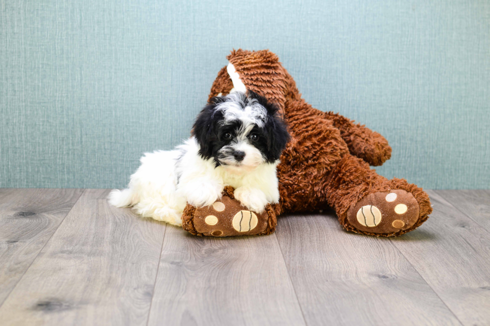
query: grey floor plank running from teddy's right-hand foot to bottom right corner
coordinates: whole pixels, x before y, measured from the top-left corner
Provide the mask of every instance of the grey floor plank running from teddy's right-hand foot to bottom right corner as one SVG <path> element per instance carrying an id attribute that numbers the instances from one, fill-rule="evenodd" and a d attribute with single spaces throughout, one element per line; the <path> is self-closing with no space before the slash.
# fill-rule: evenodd
<path id="1" fill-rule="evenodd" d="M 434 191 L 420 229 L 391 242 L 467 326 L 490 325 L 490 233 Z"/>

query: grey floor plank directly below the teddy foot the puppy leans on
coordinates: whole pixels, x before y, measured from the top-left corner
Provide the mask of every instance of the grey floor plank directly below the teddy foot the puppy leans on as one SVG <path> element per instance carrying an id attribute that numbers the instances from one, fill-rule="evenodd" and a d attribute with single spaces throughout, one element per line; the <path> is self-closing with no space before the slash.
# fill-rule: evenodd
<path id="1" fill-rule="evenodd" d="M 304 325 L 274 234 L 167 227 L 148 325 Z"/>

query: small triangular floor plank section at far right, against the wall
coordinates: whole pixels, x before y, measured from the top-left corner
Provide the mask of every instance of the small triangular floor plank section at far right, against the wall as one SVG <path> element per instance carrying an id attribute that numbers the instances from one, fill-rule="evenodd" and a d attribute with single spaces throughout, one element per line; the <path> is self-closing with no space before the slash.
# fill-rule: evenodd
<path id="1" fill-rule="evenodd" d="M 490 190 L 435 190 L 458 211 L 490 231 Z"/>

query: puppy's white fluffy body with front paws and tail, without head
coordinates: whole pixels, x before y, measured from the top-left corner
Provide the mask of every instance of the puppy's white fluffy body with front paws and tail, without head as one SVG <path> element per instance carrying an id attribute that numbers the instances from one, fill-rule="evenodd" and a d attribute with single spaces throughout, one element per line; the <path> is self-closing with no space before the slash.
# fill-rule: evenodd
<path id="1" fill-rule="evenodd" d="M 212 158 L 205 160 L 198 151 L 191 137 L 175 150 L 144 154 L 128 188 L 113 190 L 109 203 L 134 206 L 142 216 L 178 226 L 187 202 L 196 207 L 212 205 L 221 198 L 224 186 L 235 188 L 235 198 L 252 211 L 262 212 L 267 203 L 278 203 L 278 161 L 254 168 L 215 167 Z"/>

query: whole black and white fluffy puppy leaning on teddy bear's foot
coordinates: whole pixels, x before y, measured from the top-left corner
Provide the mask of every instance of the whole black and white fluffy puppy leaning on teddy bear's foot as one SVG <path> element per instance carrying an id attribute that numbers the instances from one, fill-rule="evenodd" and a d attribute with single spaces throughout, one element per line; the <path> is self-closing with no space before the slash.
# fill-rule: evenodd
<path id="1" fill-rule="evenodd" d="M 186 203 L 208 206 L 224 186 L 249 210 L 279 201 L 276 166 L 289 134 L 278 108 L 248 91 L 211 98 L 198 114 L 191 138 L 172 151 L 146 153 L 129 186 L 109 203 L 180 226 Z"/>

